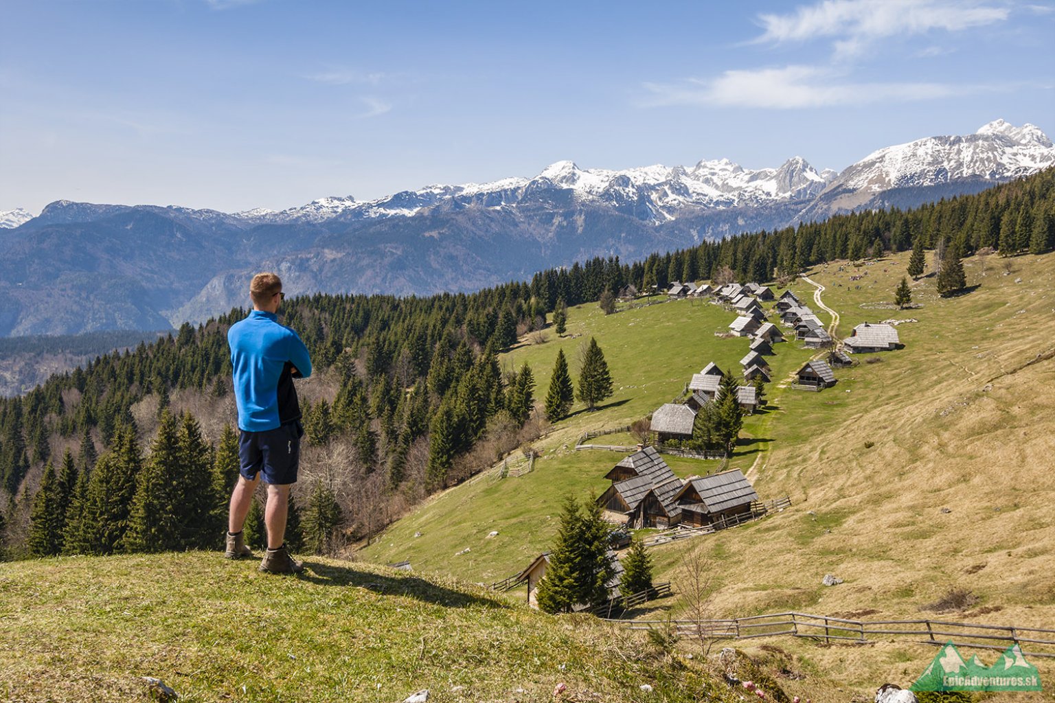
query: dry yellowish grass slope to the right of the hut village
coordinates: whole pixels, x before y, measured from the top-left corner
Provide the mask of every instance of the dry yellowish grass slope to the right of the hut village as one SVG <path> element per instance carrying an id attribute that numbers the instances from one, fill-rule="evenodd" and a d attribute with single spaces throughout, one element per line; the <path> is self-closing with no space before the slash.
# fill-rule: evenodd
<path id="1" fill-rule="evenodd" d="M 837 372 L 835 388 L 785 394 L 786 417 L 772 424 L 755 487 L 790 495 L 792 509 L 694 547 L 717 555 L 714 607 L 723 616 L 870 610 L 861 619 L 915 619 L 962 588 L 980 602 L 931 617 L 1055 629 L 1055 256 L 1015 258 L 1010 275 L 991 260 L 984 276 L 975 257 L 965 261 L 967 280 L 981 287 L 967 295 L 938 298 L 933 278 L 923 279 L 914 286 L 923 308 L 870 309 L 893 298 L 904 258 L 868 267 L 862 281 L 848 280 L 859 269 L 810 273 L 842 315 L 841 336 L 864 320 L 919 321 L 899 326 L 905 349 Z M 673 567 L 684 548 L 660 547 L 656 556 Z M 845 583 L 824 587 L 825 573 Z M 904 640 L 773 644 L 865 688 L 907 685 L 934 656 Z M 980 653 L 989 663 L 996 656 Z M 1034 661 L 1055 686 L 1050 662 Z"/>

